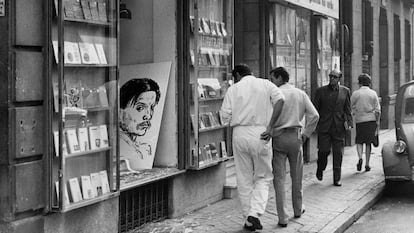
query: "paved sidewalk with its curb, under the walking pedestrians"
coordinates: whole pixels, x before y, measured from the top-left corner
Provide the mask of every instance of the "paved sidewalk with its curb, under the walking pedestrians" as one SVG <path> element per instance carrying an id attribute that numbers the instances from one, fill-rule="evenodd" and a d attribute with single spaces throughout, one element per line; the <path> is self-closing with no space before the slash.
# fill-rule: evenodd
<path id="1" fill-rule="evenodd" d="M 315 177 L 316 162 L 304 165 L 303 193 L 306 212 L 299 219 L 290 219 L 287 228 L 277 226 L 275 195 L 271 188 L 266 213 L 260 217 L 263 230 L 258 232 L 343 232 L 381 196 L 384 188 L 381 148 L 389 139 L 395 138 L 394 130 L 380 132 L 380 146 L 373 147 L 370 172 L 356 171 L 357 152 L 355 146 L 345 147 L 342 162 L 342 187 L 333 186 L 332 156 L 329 156 L 328 167 L 323 181 Z M 365 160 L 365 158 L 364 158 Z M 290 177 L 287 187 L 290 187 Z M 288 214 L 293 216 L 290 188 Z M 238 198 L 223 199 L 198 211 L 176 219 L 167 219 L 150 223 L 131 231 L 152 233 L 219 233 L 248 232 L 243 230 L 244 220 L 241 216 Z"/>

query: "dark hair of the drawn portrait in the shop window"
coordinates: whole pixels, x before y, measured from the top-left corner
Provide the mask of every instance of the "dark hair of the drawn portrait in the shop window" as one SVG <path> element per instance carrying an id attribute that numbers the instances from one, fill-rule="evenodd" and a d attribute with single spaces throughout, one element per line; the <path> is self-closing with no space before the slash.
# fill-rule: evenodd
<path id="1" fill-rule="evenodd" d="M 119 92 L 119 107 L 124 109 L 132 100 L 135 103 L 139 96 L 146 91 L 155 92 L 155 104 L 160 100 L 161 92 L 158 84 L 149 78 L 134 78 L 122 85 Z"/>

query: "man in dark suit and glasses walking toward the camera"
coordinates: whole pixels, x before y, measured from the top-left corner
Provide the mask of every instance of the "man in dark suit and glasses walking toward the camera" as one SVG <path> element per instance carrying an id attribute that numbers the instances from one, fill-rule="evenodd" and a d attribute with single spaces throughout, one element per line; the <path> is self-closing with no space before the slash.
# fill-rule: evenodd
<path id="1" fill-rule="evenodd" d="M 313 104 L 319 113 L 318 132 L 318 168 L 316 178 L 322 180 L 328 155 L 333 154 L 333 181 L 341 186 L 341 166 L 344 152 L 346 130 L 352 128 L 350 91 L 339 85 L 342 73 L 332 70 L 329 84 L 316 89 Z"/>

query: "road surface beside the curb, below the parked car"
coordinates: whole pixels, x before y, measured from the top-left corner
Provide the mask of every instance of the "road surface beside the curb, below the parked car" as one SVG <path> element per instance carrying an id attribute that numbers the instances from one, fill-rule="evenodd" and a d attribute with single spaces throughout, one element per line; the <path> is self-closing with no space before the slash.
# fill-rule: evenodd
<path id="1" fill-rule="evenodd" d="M 387 188 L 345 233 L 414 233 L 414 184 Z"/>

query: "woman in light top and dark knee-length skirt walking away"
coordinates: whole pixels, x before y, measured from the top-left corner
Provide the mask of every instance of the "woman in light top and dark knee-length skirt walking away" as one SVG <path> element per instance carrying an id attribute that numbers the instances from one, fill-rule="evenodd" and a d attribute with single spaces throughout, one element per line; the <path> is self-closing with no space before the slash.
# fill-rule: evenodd
<path id="1" fill-rule="evenodd" d="M 362 154 L 365 144 L 365 171 L 370 171 L 369 159 L 371 144 L 378 143 L 379 119 L 381 108 L 377 93 L 370 88 L 371 77 L 361 74 L 358 77 L 359 89 L 351 95 L 352 115 L 354 116 L 356 137 L 355 144 L 358 153 L 357 171 L 362 169 Z"/>

